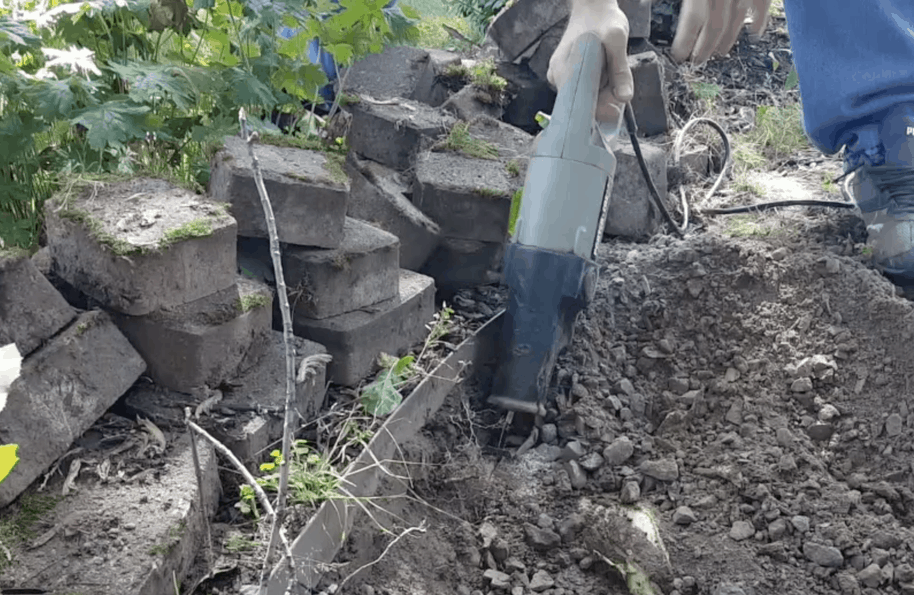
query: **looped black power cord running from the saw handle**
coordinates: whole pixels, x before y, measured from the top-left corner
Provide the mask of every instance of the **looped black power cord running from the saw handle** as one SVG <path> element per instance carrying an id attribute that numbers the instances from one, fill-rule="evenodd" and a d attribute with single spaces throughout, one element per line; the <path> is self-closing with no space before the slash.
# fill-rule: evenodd
<path id="1" fill-rule="evenodd" d="M 629 137 L 631 138 L 632 149 L 634 149 L 634 151 L 635 151 L 635 157 L 638 159 L 638 165 L 641 168 L 641 173 L 644 175 L 644 180 L 647 182 L 647 187 L 650 190 L 651 199 L 654 202 L 654 206 L 657 207 L 657 209 L 660 211 L 661 215 L 663 215 L 664 220 L 666 220 L 667 224 L 673 229 L 673 231 L 676 233 L 676 235 L 678 235 L 679 237 L 684 237 L 686 230 L 688 228 L 688 225 L 689 225 L 689 211 L 690 211 L 689 201 L 686 198 L 685 191 L 682 189 L 682 187 L 679 188 L 680 198 L 681 198 L 680 208 L 682 209 L 682 219 L 683 219 L 682 225 L 679 225 L 678 223 L 676 223 L 676 220 L 673 219 L 673 216 L 670 214 L 669 209 L 667 209 L 666 205 L 663 203 L 663 200 L 660 198 L 660 193 L 657 191 L 657 187 L 654 185 L 654 180 L 651 178 L 651 174 L 647 170 L 647 163 L 645 163 L 645 161 L 644 161 L 644 155 L 641 153 L 641 146 L 640 146 L 640 143 L 638 142 L 638 134 L 637 134 L 638 125 L 635 122 L 635 114 L 632 111 L 631 104 L 629 104 L 629 103 L 625 104 L 625 110 L 623 112 L 623 117 L 625 119 L 625 127 L 628 130 Z M 679 154 L 680 154 L 680 149 L 682 146 L 682 139 L 685 137 L 685 133 L 690 128 L 692 128 L 693 126 L 695 126 L 697 124 L 707 124 L 708 126 L 713 128 L 720 135 L 721 140 L 723 141 L 723 145 L 724 145 L 724 147 L 723 147 L 724 148 L 724 166 L 721 168 L 721 171 L 718 174 L 717 180 L 715 180 L 714 185 L 711 187 L 711 189 L 708 191 L 707 195 L 705 196 L 705 199 L 708 199 L 714 195 L 714 193 L 717 191 L 718 187 L 723 182 L 724 176 L 727 173 L 727 168 L 730 165 L 730 162 L 731 162 L 730 157 L 731 157 L 731 153 L 732 153 L 731 148 L 730 148 L 730 137 L 727 136 L 727 133 L 720 126 L 720 124 L 718 124 L 714 120 L 710 120 L 708 118 L 695 118 L 695 119 L 689 121 L 682 128 L 682 130 L 679 131 L 679 134 L 677 135 L 677 138 L 676 138 L 676 142 L 674 144 L 674 150 L 673 150 L 674 157 L 673 158 L 674 158 L 674 162 L 676 163 L 676 165 L 679 165 L 679 156 L 680 156 Z M 833 181 L 835 183 L 840 182 L 842 179 L 844 179 L 851 173 L 853 173 L 853 170 L 851 170 L 845 174 L 842 174 L 841 176 L 838 176 Z M 779 200 L 779 201 L 773 201 L 773 202 L 763 202 L 763 203 L 758 203 L 758 204 L 753 204 L 753 205 L 727 207 L 727 208 L 722 208 L 722 209 L 701 209 L 698 212 L 701 213 L 702 215 L 737 215 L 740 213 L 759 213 L 762 211 L 770 211 L 773 209 L 780 209 L 780 208 L 784 208 L 784 207 L 826 207 L 826 208 L 832 208 L 832 209 L 856 208 L 856 204 L 854 204 L 853 200 L 850 197 L 850 193 L 847 191 L 846 184 L 842 184 L 841 191 L 845 197 L 844 202 L 834 201 L 834 200 Z"/>

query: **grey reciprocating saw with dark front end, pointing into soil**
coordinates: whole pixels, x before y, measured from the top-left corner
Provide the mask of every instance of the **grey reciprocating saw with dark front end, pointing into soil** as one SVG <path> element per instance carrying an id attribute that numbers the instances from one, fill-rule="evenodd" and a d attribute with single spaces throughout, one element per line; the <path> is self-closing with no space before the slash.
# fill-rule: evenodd
<path id="1" fill-rule="evenodd" d="M 498 367 L 489 403 L 542 415 L 559 353 L 596 291 L 596 248 L 603 235 L 616 159 L 606 146 L 618 133 L 595 113 L 605 54 L 585 33 L 574 43 L 572 76 L 558 91 L 549 125 L 530 160 L 505 250 L 508 287 Z"/>

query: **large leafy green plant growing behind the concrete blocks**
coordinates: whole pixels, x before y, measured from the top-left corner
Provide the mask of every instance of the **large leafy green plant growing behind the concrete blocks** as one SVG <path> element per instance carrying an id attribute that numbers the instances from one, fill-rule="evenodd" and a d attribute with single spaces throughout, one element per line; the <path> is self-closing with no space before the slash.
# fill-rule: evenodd
<path id="1" fill-rule="evenodd" d="M 34 243 L 56 174 L 131 173 L 145 151 L 205 184 L 207 147 L 237 132 L 239 107 L 300 111 L 326 84 L 312 39 L 347 65 L 413 36 L 418 17 L 391 18 L 386 0 L 341 0 L 336 13 L 329 0 L 2 2 L 0 237 L 20 246 Z"/>

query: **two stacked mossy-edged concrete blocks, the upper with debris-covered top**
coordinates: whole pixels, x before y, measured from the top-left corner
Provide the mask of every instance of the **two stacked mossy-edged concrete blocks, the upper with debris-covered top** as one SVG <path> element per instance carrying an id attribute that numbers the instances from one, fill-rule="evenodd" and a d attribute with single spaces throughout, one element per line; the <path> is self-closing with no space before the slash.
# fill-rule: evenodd
<path id="1" fill-rule="evenodd" d="M 272 296 L 238 278 L 226 205 L 139 178 L 58 206 L 48 216 L 55 273 L 111 312 L 156 383 L 191 393 L 260 359 Z"/>

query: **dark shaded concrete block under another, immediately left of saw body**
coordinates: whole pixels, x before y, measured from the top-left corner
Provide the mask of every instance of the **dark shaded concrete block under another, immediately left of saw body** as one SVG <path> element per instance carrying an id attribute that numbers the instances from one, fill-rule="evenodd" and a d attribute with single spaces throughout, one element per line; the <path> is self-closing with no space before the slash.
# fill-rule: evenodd
<path id="1" fill-rule="evenodd" d="M 441 291 L 498 283 L 504 255 L 504 242 L 444 238 L 422 274 L 432 277 Z"/>

